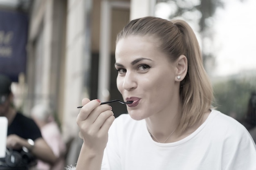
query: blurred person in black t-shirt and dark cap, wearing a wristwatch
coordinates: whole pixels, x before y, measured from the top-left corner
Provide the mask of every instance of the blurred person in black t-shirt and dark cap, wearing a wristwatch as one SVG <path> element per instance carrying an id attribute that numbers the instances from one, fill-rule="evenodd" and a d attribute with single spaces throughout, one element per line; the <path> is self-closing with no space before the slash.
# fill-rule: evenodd
<path id="1" fill-rule="evenodd" d="M 53 164 L 56 156 L 42 138 L 40 129 L 29 117 L 15 110 L 12 105 L 11 80 L 0 74 L 0 116 L 7 117 L 7 149 L 31 153 L 36 159 Z"/>

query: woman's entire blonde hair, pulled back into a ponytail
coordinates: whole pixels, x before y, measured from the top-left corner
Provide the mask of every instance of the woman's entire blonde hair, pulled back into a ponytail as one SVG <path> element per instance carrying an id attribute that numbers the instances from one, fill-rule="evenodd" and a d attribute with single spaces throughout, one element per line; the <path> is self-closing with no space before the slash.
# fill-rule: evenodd
<path id="1" fill-rule="evenodd" d="M 117 35 L 121 38 L 130 35 L 154 36 L 158 47 L 165 52 L 171 62 L 180 55 L 188 60 L 186 77 L 180 82 L 180 100 L 182 115 L 178 130 L 183 132 L 200 121 L 203 114 L 211 108 L 213 89 L 204 70 L 200 46 L 195 33 L 183 20 L 164 20 L 156 17 L 144 17 L 130 21 Z"/>

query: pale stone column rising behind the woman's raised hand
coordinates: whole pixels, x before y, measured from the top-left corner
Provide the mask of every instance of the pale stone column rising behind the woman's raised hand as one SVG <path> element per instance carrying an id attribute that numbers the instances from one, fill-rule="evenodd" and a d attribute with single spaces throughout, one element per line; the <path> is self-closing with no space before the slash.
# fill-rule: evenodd
<path id="1" fill-rule="evenodd" d="M 88 97 L 90 71 L 91 0 L 68 0 L 63 135 L 65 141 L 78 135 L 77 106 Z"/>

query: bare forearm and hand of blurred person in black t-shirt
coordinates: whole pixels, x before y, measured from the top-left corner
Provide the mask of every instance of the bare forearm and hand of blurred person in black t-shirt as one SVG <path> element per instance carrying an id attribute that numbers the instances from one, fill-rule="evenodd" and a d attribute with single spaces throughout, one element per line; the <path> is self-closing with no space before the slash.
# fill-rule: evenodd
<path id="1" fill-rule="evenodd" d="M 56 157 L 52 152 L 52 149 L 48 146 L 45 140 L 40 137 L 34 141 L 34 146 L 31 146 L 27 139 L 21 138 L 18 135 L 9 135 L 7 137 L 7 148 L 22 149 L 22 147 L 28 148 L 28 150 L 37 158 L 47 163 L 53 164 L 56 161 Z"/>

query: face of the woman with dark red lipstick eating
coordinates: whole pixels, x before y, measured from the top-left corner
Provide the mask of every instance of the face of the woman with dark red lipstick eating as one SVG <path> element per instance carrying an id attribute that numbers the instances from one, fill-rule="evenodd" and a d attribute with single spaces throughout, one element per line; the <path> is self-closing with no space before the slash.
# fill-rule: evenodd
<path id="1" fill-rule="evenodd" d="M 115 68 L 117 88 L 132 119 L 169 113 L 179 100 L 177 69 L 160 51 L 159 42 L 149 36 L 128 36 L 117 42 Z"/>

